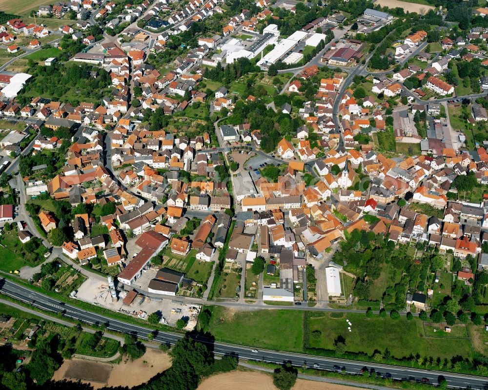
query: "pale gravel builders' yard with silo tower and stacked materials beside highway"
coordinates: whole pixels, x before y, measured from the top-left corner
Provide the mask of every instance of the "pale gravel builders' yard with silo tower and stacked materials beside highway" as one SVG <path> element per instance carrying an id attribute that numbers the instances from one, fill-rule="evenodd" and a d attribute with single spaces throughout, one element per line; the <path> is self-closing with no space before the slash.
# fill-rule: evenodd
<path id="1" fill-rule="evenodd" d="M 156 270 L 149 269 L 147 272 L 142 274 L 142 281 L 148 283 L 147 278 L 153 278 L 156 275 Z M 145 280 L 147 279 L 147 281 Z M 136 281 L 136 284 L 139 284 Z M 134 286 L 135 287 L 135 286 Z M 183 303 L 178 303 L 178 297 L 166 297 L 166 298 L 153 298 L 138 295 L 136 299 L 132 302 L 130 306 L 124 305 L 122 300 L 125 293 L 131 290 L 133 287 L 124 286 L 124 292 L 118 291 L 119 299 L 116 302 L 112 301 L 112 297 L 108 290 L 108 284 L 100 281 L 96 281 L 89 278 L 85 283 L 81 285 L 76 294 L 76 298 L 81 301 L 85 301 L 97 306 L 102 306 L 110 310 L 121 311 L 125 314 L 135 316 L 139 312 L 142 312 L 142 318 L 144 313 L 149 315 L 155 311 L 161 311 L 163 318 L 168 325 L 174 326 L 176 321 L 180 318 L 188 319 L 191 318 L 195 311 L 192 309 L 198 307 L 199 305 L 186 305 Z M 137 290 L 137 287 L 135 287 Z M 172 298 L 172 299 L 170 299 Z"/>

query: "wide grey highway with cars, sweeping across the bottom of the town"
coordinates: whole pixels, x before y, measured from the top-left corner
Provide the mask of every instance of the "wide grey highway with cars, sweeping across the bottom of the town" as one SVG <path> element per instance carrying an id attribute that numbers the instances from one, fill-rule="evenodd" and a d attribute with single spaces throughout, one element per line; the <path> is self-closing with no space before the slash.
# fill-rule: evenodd
<path id="1" fill-rule="evenodd" d="M 80 320 L 88 324 L 105 324 L 107 329 L 122 333 L 131 333 L 141 339 L 147 339 L 147 335 L 152 331 L 151 329 L 144 328 L 142 326 L 128 324 L 119 320 L 113 320 L 100 314 L 91 313 L 89 311 L 64 304 L 56 299 L 47 297 L 41 293 L 19 286 L 16 283 L 7 281 L 5 279 L 0 280 L 0 292 L 43 310 L 48 310 L 55 313 L 61 312 L 66 317 Z M 183 336 L 181 334 L 158 332 L 155 334 L 154 341 L 159 343 L 174 344 L 182 337 Z M 240 359 L 245 360 L 259 360 L 278 364 L 291 361 L 294 366 L 306 366 L 309 368 L 315 367 L 324 370 L 334 370 L 334 366 L 338 366 L 351 374 L 360 374 L 361 370 L 366 366 L 369 370 L 374 369 L 376 372 L 381 372 L 382 375 L 388 374 L 391 375 L 393 379 L 399 380 L 422 381 L 423 378 L 427 378 L 430 383 L 437 384 L 439 377 L 444 377 L 447 380 L 448 386 L 451 388 L 470 387 L 471 389 L 482 390 L 488 385 L 488 378 L 472 375 L 451 374 L 447 372 L 430 371 L 424 369 L 410 369 L 406 367 L 396 367 L 382 364 L 365 364 L 353 360 L 325 358 L 282 351 L 271 351 L 264 349 L 258 350 L 253 349 L 252 347 L 224 344 L 218 341 L 213 342 L 212 340 L 203 338 L 201 336 L 196 336 L 195 339 L 199 342 L 211 344 L 213 351 L 218 355 L 233 354 L 238 356 Z"/>

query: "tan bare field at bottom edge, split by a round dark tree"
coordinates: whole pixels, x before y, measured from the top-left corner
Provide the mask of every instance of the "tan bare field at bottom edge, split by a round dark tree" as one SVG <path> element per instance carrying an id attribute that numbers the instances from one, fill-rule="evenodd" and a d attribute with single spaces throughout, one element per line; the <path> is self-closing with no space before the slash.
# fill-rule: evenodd
<path id="1" fill-rule="evenodd" d="M 271 375 L 259 372 L 227 372 L 205 379 L 197 390 L 276 390 Z M 349 386 L 297 379 L 291 390 L 352 390 Z"/>

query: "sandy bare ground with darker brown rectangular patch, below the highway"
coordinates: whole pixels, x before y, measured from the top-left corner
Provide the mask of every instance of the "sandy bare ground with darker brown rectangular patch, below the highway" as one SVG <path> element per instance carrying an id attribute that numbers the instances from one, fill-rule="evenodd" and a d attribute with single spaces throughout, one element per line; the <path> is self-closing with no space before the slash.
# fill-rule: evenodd
<path id="1" fill-rule="evenodd" d="M 88 370 L 86 370 L 87 367 L 89 367 Z M 104 386 L 128 386 L 131 388 L 147 382 L 169 367 L 171 367 L 171 358 L 167 353 L 148 348 L 142 358 L 134 361 L 129 360 L 126 363 L 125 360 L 122 360 L 118 365 L 81 359 L 65 360 L 60 369 L 54 373 L 53 379 L 80 379 L 81 382 L 90 383 L 94 389 L 100 389 Z M 99 376 L 99 371 L 103 372 L 103 378 L 102 375 Z M 92 372 L 94 374 L 91 374 Z M 97 376 L 97 378 L 86 379 L 88 376 Z"/>

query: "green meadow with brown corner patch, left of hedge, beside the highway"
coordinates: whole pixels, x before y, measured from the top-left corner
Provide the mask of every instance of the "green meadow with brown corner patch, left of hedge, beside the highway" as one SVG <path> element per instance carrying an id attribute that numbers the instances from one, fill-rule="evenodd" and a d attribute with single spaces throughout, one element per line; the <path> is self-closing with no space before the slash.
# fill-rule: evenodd
<path id="1" fill-rule="evenodd" d="M 216 341 L 293 352 L 303 349 L 303 312 L 300 310 L 209 308 L 213 310 L 209 329 Z"/>

